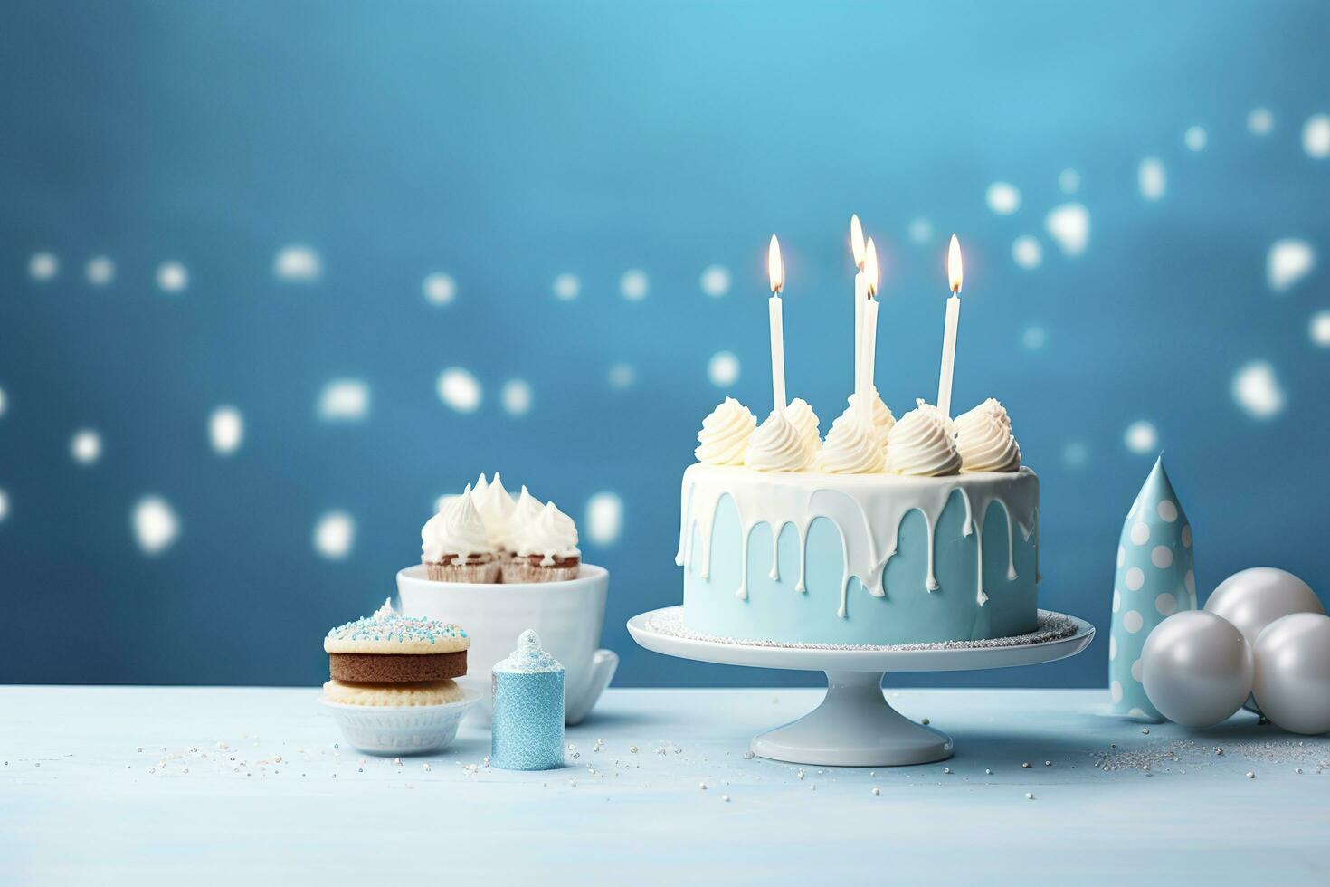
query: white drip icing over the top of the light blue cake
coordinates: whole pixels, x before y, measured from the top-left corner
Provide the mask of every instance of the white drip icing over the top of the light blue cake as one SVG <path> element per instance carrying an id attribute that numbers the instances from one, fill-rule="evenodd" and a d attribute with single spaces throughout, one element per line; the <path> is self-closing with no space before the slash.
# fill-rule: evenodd
<path id="1" fill-rule="evenodd" d="M 779 540 L 786 524 L 795 528 L 799 544 L 799 578 L 795 590 L 807 592 L 807 537 L 817 517 L 830 520 L 841 533 L 845 568 L 841 576 L 841 606 L 837 614 L 847 616 L 850 580 L 858 578 L 874 597 L 887 593 L 887 561 L 896 553 L 900 524 L 916 511 L 924 520 L 928 545 L 928 569 L 924 588 L 940 588 L 935 564 L 935 529 L 951 496 L 959 492 L 966 507 L 963 533 L 975 533 L 978 580 L 975 594 L 987 602 L 983 570 L 983 525 L 988 508 L 1001 505 L 1007 520 L 1007 578 L 1015 580 L 1015 532 L 1029 541 L 1037 525 L 1039 480 L 1032 471 L 967 472 L 947 477 L 910 477 L 896 475 L 821 475 L 769 473 L 729 465 L 690 465 L 684 472 L 681 489 L 680 543 L 674 563 L 690 568 L 697 552 L 694 528 L 701 541 L 700 573 L 709 578 L 712 567 L 712 531 L 721 499 L 729 496 L 738 512 L 742 549 L 739 586 L 735 596 L 747 597 L 747 555 L 750 537 L 759 524 L 771 532 L 773 580 L 779 578 Z M 1039 555 L 1035 555 L 1037 581 Z"/>

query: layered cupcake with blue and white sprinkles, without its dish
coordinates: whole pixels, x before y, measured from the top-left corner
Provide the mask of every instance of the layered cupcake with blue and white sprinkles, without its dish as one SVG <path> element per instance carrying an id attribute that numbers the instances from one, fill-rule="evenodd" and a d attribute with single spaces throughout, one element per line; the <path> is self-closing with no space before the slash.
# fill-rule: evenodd
<path id="1" fill-rule="evenodd" d="M 391 601 L 323 638 L 323 698 L 342 705 L 443 705 L 463 698 L 452 681 L 467 673 L 471 638 L 451 622 L 406 617 Z"/>

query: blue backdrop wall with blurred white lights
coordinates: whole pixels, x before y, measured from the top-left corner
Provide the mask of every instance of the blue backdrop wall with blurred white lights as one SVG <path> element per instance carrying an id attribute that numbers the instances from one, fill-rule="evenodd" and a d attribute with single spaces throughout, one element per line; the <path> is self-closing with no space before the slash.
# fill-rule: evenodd
<path id="1" fill-rule="evenodd" d="M 1202 598 L 1257 564 L 1325 593 L 1326 33 L 1317 3 L 7 3 L 0 681 L 321 681 L 495 468 L 612 570 L 618 682 L 813 681 L 622 624 L 680 598 L 702 416 L 769 408 L 771 231 L 790 394 L 839 412 L 851 211 L 898 415 L 960 234 L 956 403 L 1003 399 L 1043 477 L 1045 606 L 1108 625 L 1160 448 Z M 1105 649 L 911 680 L 1103 686 Z"/>

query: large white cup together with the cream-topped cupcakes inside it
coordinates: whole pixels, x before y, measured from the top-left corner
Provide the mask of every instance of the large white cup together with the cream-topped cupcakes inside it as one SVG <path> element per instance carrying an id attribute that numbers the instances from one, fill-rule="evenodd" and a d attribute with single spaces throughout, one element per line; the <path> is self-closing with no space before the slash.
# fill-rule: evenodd
<path id="1" fill-rule="evenodd" d="M 497 473 L 481 475 L 443 501 L 420 537 L 422 563 L 398 573 L 402 612 L 471 628 L 471 673 L 458 684 L 481 697 L 472 717 L 489 721 L 489 672 L 535 629 L 567 670 L 565 719 L 580 723 L 618 656 L 598 648 L 609 572 L 583 563 L 573 519 L 525 487 L 515 499 Z"/>

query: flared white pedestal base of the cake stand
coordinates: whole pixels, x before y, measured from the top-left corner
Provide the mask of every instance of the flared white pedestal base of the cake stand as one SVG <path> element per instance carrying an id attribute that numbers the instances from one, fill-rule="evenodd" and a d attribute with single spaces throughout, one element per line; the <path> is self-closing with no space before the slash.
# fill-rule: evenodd
<path id="1" fill-rule="evenodd" d="M 882 672 L 827 672 L 827 694 L 793 723 L 758 734 L 753 753 L 835 767 L 890 767 L 951 757 L 951 737 L 887 703 Z"/>

